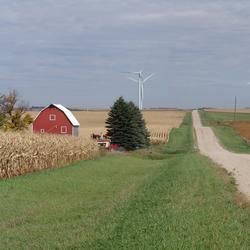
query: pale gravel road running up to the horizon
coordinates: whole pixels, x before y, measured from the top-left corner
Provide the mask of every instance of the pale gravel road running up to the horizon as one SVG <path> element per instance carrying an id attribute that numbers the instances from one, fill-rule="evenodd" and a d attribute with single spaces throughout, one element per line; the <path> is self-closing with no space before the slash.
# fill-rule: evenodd
<path id="1" fill-rule="evenodd" d="M 239 191 L 250 200 L 250 155 L 224 149 L 210 127 L 203 127 L 197 110 L 192 113 L 200 153 L 233 173 Z"/>

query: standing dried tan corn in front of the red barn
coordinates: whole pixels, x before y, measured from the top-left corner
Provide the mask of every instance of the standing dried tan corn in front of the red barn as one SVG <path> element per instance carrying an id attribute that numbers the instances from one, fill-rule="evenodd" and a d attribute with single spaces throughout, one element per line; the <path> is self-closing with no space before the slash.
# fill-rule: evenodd
<path id="1" fill-rule="evenodd" d="M 92 159 L 97 152 L 95 143 L 82 137 L 0 133 L 0 178 Z"/>

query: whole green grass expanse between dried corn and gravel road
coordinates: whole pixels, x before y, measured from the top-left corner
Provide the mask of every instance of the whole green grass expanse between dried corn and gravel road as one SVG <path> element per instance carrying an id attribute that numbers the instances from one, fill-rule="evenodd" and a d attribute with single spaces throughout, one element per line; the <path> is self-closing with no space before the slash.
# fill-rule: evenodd
<path id="1" fill-rule="evenodd" d="M 168 146 L 0 181 L 0 249 L 249 249 L 235 195 L 188 114 Z"/>

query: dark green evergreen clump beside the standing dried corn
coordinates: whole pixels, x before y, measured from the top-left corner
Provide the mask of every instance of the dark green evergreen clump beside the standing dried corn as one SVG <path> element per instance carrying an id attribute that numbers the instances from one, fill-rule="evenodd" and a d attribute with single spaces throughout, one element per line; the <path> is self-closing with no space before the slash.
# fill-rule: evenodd
<path id="1" fill-rule="evenodd" d="M 149 145 L 149 133 L 140 110 L 133 102 L 128 103 L 122 97 L 111 108 L 106 120 L 106 128 L 112 143 L 126 150 Z"/>

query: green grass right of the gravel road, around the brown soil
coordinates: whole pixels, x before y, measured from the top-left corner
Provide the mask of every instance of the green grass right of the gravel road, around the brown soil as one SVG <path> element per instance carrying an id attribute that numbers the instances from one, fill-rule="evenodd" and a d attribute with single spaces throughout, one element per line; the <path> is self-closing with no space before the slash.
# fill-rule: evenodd
<path id="1" fill-rule="evenodd" d="M 212 127 L 220 143 L 227 149 L 236 153 L 250 153 L 250 146 L 231 127 L 229 123 L 234 121 L 233 113 L 199 111 L 204 126 Z M 250 114 L 238 113 L 236 121 L 250 121 Z"/>

